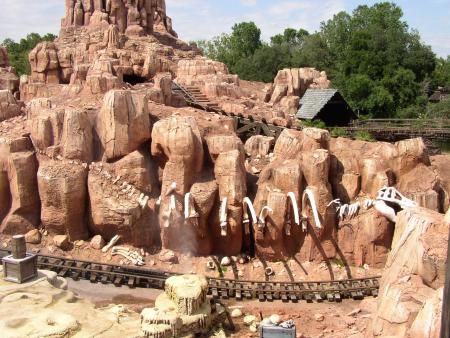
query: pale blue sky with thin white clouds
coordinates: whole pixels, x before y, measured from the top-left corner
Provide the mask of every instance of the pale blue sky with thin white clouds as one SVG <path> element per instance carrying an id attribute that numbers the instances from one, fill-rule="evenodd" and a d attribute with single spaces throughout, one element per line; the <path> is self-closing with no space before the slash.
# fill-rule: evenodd
<path id="1" fill-rule="evenodd" d="M 27 33 L 59 31 L 64 15 L 64 0 L 2 0 L 0 41 L 18 40 Z M 209 39 L 230 32 L 234 23 L 254 21 L 263 38 L 286 27 L 319 29 L 320 22 L 339 11 L 353 11 L 358 5 L 377 1 L 363 0 L 166 0 L 167 13 L 174 28 L 186 41 Z M 450 55 L 450 0 L 398 0 L 411 28 L 439 56 Z"/>

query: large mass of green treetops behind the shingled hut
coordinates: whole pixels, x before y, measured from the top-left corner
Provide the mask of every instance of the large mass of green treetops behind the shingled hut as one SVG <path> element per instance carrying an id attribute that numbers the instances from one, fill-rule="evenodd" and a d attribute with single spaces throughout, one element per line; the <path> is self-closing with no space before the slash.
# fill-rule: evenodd
<path id="1" fill-rule="evenodd" d="M 418 117 L 427 92 L 450 86 L 450 58 L 436 59 L 391 2 L 359 6 L 323 22 L 318 32 L 287 28 L 262 42 L 253 22 L 199 46 L 241 78 L 271 82 L 286 67 L 325 70 L 354 110 L 367 117 Z"/>

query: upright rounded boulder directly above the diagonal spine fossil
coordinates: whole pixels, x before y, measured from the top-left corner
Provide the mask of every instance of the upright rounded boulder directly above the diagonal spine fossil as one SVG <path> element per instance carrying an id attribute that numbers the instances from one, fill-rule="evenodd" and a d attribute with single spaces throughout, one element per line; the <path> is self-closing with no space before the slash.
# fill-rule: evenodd
<path id="1" fill-rule="evenodd" d="M 97 116 L 96 129 L 107 159 L 137 150 L 151 134 L 146 96 L 127 90 L 108 92 Z"/>

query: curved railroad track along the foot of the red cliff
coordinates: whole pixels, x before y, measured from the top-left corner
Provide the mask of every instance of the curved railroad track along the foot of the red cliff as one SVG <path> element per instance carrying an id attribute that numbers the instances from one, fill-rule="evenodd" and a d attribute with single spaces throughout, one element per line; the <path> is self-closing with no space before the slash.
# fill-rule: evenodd
<path id="1" fill-rule="evenodd" d="M 10 254 L 0 250 L 0 258 Z M 117 266 L 38 255 L 38 268 L 51 270 L 60 277 L 89 280 L 91 283 L 113 284 L 116 287 L 164 289 L 171 272 Z M 342 299 L 363 299 L 378 296 L 380 277 L 339 281 L 270 282 L 241 281 L 208 277 L 209 294 L 214 299 L 251 300 L 261 302 L 340 302 Z"/>

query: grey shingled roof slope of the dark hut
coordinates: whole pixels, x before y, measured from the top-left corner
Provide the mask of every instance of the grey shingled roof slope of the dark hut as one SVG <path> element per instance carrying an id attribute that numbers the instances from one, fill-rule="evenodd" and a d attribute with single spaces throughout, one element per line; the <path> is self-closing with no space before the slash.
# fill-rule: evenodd
<path id="1" fill-rule="evenodd" d="M 308 89 L 300 100 L 297 117 L 303 120 L 314 119 L 336 93 L 337 89 Z"/>

